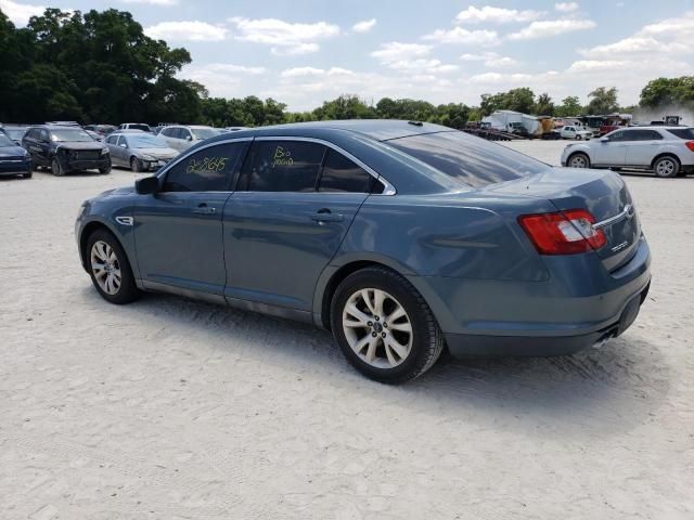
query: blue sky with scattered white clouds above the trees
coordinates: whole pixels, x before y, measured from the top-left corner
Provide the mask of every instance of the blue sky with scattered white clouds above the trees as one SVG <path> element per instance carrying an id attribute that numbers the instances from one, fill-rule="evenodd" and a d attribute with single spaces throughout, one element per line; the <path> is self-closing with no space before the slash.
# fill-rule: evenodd
<path id="1" fill-rule="evenodd" d="M 615 86 L 694 74 L 694 0 L 0 0 L 17 24 L 43 5 L 116 8 L 193 57 L 181 77 L 211 95 L 310 109 L 340 93 L 478 104 L 528 86 L 584 102 Z"/>

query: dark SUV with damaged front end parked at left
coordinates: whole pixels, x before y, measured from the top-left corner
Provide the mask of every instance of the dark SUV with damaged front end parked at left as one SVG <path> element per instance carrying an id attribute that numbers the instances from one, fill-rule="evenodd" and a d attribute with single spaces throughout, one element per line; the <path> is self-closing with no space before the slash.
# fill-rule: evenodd
<path id="1" fill-rule="evenodd" d="M 31 127 L 24 134 L 22 146 L 31 156 L 34 167 L 50 167 L 54 176 L 91 169 L 111 172 L 108 148 L 79 127 Z"/>

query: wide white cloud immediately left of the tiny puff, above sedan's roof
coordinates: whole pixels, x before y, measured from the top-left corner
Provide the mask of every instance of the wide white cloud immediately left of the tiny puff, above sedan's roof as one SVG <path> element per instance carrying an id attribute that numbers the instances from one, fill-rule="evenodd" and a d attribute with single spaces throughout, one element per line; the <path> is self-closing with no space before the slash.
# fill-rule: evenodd
<path id="1" fill-rule="evenodd" d="M 293 24 L 277 18 L 230 18 L 237 40 L 272 46 L 278 55 L 308 54 L 320 49 L 317 41 L 339 35 L 339 27 L 326 22 Z"/>

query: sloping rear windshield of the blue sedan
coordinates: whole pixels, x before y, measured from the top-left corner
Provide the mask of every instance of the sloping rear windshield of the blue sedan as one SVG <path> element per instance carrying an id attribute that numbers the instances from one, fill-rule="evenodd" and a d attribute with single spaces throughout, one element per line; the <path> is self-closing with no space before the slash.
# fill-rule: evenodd
<path id="1" fill-rule="evenodd" d="M 519 152 L 459 131 L 410 135 L 386 143 L 473 187 L 512 181 L 550 168 Z"/>

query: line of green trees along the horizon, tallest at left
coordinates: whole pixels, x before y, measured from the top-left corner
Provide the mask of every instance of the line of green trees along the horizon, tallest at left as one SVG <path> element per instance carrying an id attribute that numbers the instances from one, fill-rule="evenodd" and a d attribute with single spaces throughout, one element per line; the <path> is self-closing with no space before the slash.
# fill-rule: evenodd
<path id="1" fill-rule="evenodd" d="M 63 12 L 47 9 L 16 28 L 0 11 L 0 121 L 75 119 L 85 123 L 168 121 L 216 127 L 257 127 L 323 119 L 389 118 L 462 128 L 498 109 L 545 116 L 633 112 L 639 107 L 694 109 L 694 76 L 658 78 L 641 92 L 638 106 L 621 107 L 615 87 L 555 103 L 522 87 L 483 94 L 478 106 L 434 105 L 384 98 L 375 105 L 345 94 L 308 112 L 288 112 L 273 99 L 210 98 L 203 84 L 176 77 L 191 63 L 185 49 L 154 40 L 128 12 L 110 9 Z"/>

